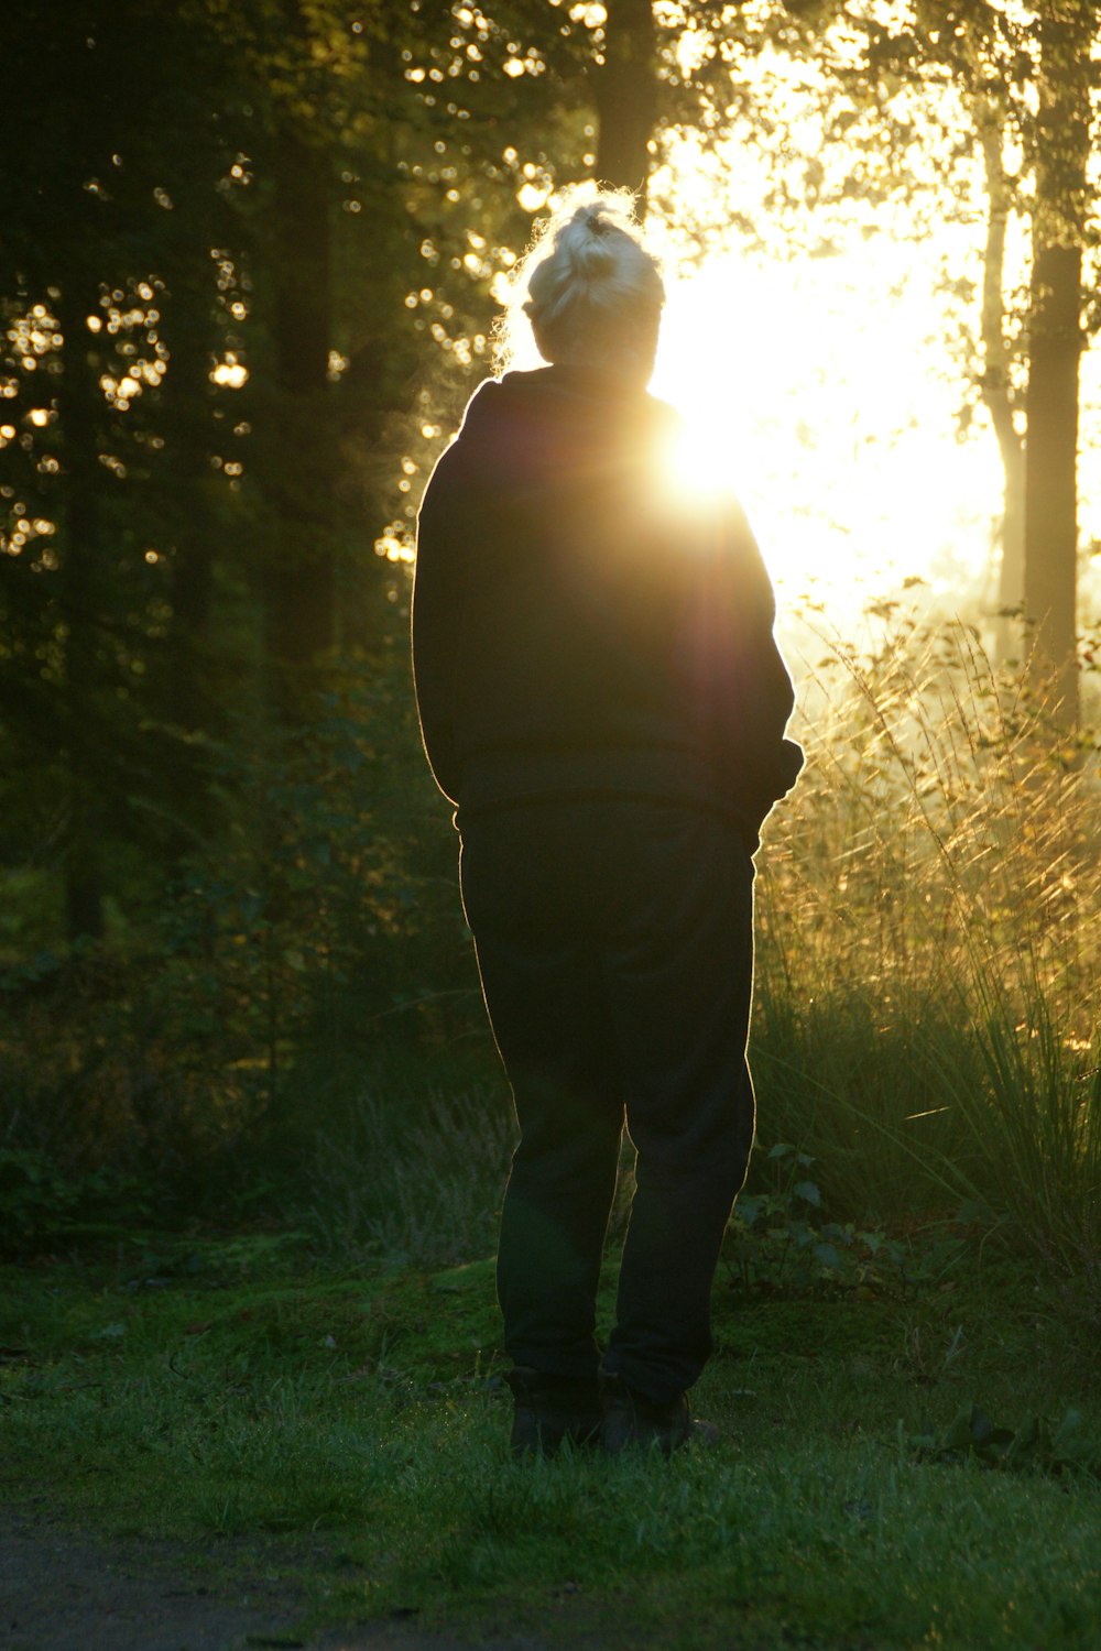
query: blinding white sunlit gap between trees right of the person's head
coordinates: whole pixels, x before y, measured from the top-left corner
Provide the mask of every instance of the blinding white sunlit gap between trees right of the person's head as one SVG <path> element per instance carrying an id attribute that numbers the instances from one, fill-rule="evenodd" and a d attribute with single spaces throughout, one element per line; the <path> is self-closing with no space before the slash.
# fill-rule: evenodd
<path id="1" fill-rule="evenodd" d="M 814 154 L 814 99 L 774 64 L 759 73 L 771 107 L 786 99 L 797 152 Z M 981 291 L 987 201 L 966 167 L 949 193 L 924 229 L 903 205 L 843 192 L 847 205 L 822 215 L 773 220 L 768 168 L 736 142 L 673 145 L 654 180 L 669 302 L 652 390 L 687 419 L 680 485 L 733 487 L 746 507 L 781 622 L 806 598 L 850 629 L 914 581 L 941 613 L 997 611 L 1004 472 L 966 343 L 976 297 L 949 296 Z M 1010 244 L 1007 291 L 1025 281 L 1025 256 Z M 1096 348 L 1081 357 L 1078 477 L 1083 543 L 1096 543 Z M 1080 591 L 1083 611 L 1101 601 L 1101 556 Z"/>

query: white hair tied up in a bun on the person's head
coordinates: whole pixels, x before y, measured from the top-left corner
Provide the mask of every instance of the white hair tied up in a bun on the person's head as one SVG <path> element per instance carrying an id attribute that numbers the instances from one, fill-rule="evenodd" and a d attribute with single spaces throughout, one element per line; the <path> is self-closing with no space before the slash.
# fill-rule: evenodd
<path id="1" fill-rule="evenodd" d="M 497 365 L 530 358 L 532 335 L 548 362 L 631 365 L 632 355 L 645 357 L 664 302 L 660 264 L 642 241 L 634 196 L 573 185 L 512 271 L 495 329 Z"/>

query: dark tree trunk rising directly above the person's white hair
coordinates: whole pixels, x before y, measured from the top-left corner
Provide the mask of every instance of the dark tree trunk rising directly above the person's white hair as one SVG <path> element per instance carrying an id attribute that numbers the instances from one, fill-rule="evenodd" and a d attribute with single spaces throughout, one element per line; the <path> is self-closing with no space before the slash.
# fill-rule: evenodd
<path id="1" fill-rule="evenodd" d="M 634 190 L 645 215 L 650 139 L 657 125 L 657 28 L 650 0 L 607 0 L 604 63 L 594 74 L 596 177 Z"/>

